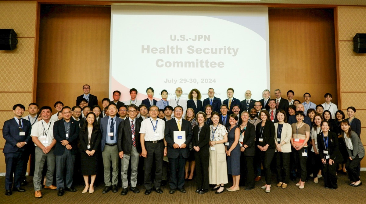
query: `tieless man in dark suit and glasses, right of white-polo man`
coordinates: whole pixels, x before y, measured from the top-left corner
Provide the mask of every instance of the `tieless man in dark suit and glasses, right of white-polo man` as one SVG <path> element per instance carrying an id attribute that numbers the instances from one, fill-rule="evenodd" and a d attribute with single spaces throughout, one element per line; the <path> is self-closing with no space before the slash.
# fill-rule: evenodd
<path id="1" fill-rule="evenodd" d="M 79 138 L 79 124 L 71 118 L 71 108 L 64 106 L 61 110 L 63 120 L 53 125 L 53 138 L 56 140 L 53 154 L 56 156 L 56 186 L 58 196 L 63 196 L 64 190 L 76 192 L 72 186 L 74 175 L 77 139 Z M 64 170 L 66 169 L 66 172 Z M 66 184 L 66 187 L 65 187 Z"/>

